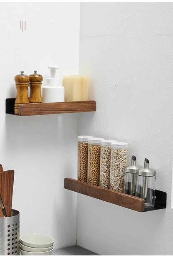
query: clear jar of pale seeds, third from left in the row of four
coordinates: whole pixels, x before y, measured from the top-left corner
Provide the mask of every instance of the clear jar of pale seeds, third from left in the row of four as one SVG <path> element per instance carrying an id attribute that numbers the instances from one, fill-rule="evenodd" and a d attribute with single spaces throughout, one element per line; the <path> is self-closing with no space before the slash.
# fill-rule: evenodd
<path id="1" fill-rule="evenodd" d="M 104 139 L 101 141 L 100 151 L 100 187 L 110 187 L 110 169 L 111 169 L 111 142 L 112 139 Z"/>

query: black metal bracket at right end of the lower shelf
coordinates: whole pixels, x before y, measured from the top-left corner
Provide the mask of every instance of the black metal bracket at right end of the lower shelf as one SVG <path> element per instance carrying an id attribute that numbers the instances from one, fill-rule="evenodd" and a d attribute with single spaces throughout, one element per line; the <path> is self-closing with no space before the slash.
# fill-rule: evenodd
<path id="1" fill-rule="evenodd" d="M 151 210 L 160 210 L 160 209 L 166 209 L 166 198 L 167 194 L 166 192 L 155 190 L 155 205 L 151 208 L 145 208 L 145 212 L 149 212 Z"/>

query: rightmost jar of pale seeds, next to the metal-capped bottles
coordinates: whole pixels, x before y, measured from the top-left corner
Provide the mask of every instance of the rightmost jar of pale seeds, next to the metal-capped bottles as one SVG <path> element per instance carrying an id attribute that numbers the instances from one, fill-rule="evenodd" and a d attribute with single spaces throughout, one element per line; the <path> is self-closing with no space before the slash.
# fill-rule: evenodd
<path id="1" fill-rule="evenodd" d="M 110 189 L 124 192 L 124 167 L 127 165 L 126 142 L 111 143 Z"/>

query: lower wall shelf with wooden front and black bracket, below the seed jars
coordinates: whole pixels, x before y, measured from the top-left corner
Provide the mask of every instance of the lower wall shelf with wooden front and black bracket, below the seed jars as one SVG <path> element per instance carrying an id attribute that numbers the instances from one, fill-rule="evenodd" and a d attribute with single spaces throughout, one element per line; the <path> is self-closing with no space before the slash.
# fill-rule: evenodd
<path id="1" fill-rule="evenodd" d="M 71 178 L 64 179 L 64 188 L 83 195 L 88 195 L 115 205 L 119 205 L 138 212 L 147 212 L 166 208 L 166 192 L 156 190 L 155 205 L 151 208 L 144 208 L 144 199 L 137 198 L 107 188 L 85 183 Z"/>

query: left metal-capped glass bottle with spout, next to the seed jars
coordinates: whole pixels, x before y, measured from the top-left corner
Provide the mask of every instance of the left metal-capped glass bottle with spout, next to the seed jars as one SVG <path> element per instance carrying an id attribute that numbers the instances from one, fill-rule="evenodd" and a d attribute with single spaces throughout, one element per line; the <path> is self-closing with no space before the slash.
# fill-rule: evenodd
<path id="1" fill-rule="evenodd" d="M 136 192 L 136 173 L 141 166 L 136 165 L 136 156 L 132 155 L 131 165 L 124 168 L 124 193 L 135 196 Z"/>

